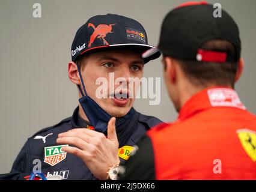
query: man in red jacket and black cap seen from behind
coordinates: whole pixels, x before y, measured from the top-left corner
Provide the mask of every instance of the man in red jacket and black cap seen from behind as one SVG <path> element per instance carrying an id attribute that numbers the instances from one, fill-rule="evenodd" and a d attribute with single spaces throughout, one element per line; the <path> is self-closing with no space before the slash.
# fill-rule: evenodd
<path id="1" fill-rule="evenodd" d="M 239 29 L 213 11 L 193 2 L 165 17 L 158 47 L 179 116 L 147 132 L 120 179 L 256 179 L 256 116 L 234 91 L 244 65 Z"/>

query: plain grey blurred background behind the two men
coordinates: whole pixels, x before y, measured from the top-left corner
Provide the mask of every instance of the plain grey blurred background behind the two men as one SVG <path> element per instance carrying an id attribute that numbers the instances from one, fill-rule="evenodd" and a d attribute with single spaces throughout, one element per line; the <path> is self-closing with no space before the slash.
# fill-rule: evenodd
<path id="1" fill-rule="evenodd" d="M 42 18 L 32 16 L 32 5 L 41 4 Z M 78 92 L 67 75 L 70 46 L 76 30 L 97 14 L 115 13 L 138 20 L 156 46 L 160 25 L 169 10 L 184 1 L 108 0 L 0 1 L 0 173 L 7 173 L 28 137 L 71 116 Z M 241 100 L 256 113 L 256 1 L 219 2 L 240 28 L 245 71 L 236 85 Z M 145 67 L 146 77 L 162 77 L 160 58 Z M 161 80 L 161 102 L 150 106 L 139 99 L 135 109 L 163 121 L 177 117 Z"/>

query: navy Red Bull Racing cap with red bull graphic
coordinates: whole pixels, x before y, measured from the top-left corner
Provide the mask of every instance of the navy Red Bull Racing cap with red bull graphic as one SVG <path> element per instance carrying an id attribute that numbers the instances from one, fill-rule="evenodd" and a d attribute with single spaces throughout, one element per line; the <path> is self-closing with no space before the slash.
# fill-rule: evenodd
<path id="1" fill-rule="evenodd" d="M 76 61 L 84 53 L 113 49 L 132 49 L 143 53 L 151 48 L 154 47 L 148 45 L 147 34 L 139 22 L 117 14 L 106 14 L 91 17 L 78 29 L 71 55 L 72 61 Z M 158 51 L 144 58 L 144 62 L 159 56 Z"/>

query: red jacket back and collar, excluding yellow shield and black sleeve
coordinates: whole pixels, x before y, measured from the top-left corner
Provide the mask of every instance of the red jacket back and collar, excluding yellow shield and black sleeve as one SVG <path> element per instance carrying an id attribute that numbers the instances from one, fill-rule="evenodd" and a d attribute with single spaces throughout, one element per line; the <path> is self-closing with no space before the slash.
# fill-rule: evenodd
<path id="1" fill-rule="evenodd" d="M 156 179 L 256 179 L 256 162 L 236 133 L 243 128 L 256 131 L 256 116 L 245 109 L 233 89 L 199 92 L 184 104 L 176 122 L 147 132 L 153 143 Z M 221 160 L 221 174 L 213 172 L 216 159 Z"/>

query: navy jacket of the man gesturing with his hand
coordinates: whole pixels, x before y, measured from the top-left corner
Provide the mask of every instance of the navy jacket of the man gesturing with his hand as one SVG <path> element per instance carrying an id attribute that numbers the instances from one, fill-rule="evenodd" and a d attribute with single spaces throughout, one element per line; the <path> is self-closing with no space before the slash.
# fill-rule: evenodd
<path id="1" fill-rule="evenodd" d="M 141 113 L 136 112 L 135 109 L 133 110 L 134 114 L 126 120 L 126 123 L 117 127 L 117 137 L 120 147 L 124 145 L 133 146 L 148 129 L 161 122 L 153 116 L 142 115 Z M 83 123 L 84 126 L 78 124 L 78 112 L 79 109 L 77 107 L 72 117 L 64 119 L 53 127 L 38 131 L 38 133 L 34 134 L 34 136 L 26 141 L 11 169 L 11 174 L 14 175 L 12 179 L 17 179 L 17 173 L 20 173 L 20 175 L 24 175 L 24 173 L 30 174 L 34 167 L 32 162 L 35 159 L 41 160 L 41 171 L 46 176 L 49 174 L 56 174 L 61 175 L 64 179 L 96 179 L 86 164 L 80 158 L 72 154 L 67 154 L 66 159 L 55 166 L 50 166 L 49 164 L 44 163 L 44 148 L 47 146 L 58 145 L 56 139 L 59 133 L 69 131 L 72 128 L 85 127 L 86 121 Z M 50 133 L 52 133 L 52 135 L 47 137 L 46 143 L 43 143 L 42 139 L 34 139 L 35 136 L 46 136 Z M 121 162 L 125 161 L 122 158 L 120 158 L 120 160 Z M 7 178 L 6 175 L 5 178 Z M 11 179 L 11 177 L 8 179 Z"/>

